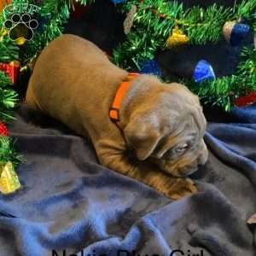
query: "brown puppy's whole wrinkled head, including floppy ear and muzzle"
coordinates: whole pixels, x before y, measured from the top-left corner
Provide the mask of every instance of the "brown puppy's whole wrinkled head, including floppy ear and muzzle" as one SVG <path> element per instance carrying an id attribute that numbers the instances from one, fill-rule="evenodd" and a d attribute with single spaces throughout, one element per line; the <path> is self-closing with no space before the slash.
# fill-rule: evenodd
<path id="1" fill-rule="evenodd" d="M 182 84 L 161 84 L 145 90 L 125 125 L 125 140 L 138 160 L 154 162 L 164 172 L 182 177 L 207 161 L 203 141 L 207 121 L 198 97 Z M 143 86 L 143 83 L 141 84 Z"/>

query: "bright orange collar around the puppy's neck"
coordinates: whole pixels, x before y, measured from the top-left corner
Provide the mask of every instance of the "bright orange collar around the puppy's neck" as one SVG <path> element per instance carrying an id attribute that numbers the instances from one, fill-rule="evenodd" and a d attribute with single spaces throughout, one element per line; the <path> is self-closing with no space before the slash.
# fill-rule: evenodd
<path id="1" fill-rule="evenodd" d="M 121 102 L 125 93 L 130 88 L 131 81 L 138 76 L 138 73 L 129 73 L 125 80 L 119 85 L 119 89 L 117 90 L 112 107 L 109 109 L 109 118 L 117 123 L 120 121 L 119 118 L 119 110 L 121 107 Z"/>

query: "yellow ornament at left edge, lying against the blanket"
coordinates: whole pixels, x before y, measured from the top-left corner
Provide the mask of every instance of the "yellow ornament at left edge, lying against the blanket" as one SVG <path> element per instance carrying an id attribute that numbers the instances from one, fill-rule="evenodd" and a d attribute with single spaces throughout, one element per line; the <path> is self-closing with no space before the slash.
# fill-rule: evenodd
<path id="1" fill-rule="evenodd" d="M 12 162 L 0 163 L 0 192 L 9 194 L 20 189 L 20 181 Z"/>

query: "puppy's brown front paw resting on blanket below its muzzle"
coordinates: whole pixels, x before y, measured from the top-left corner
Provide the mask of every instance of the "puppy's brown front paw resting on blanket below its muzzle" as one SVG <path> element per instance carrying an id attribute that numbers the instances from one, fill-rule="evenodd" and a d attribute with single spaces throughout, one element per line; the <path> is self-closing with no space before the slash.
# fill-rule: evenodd
<path id="1" fill-rule="evenodd" d="M 172 200 L 178 200 L 183 196 L 192 195 L 196 192 L 195 183 L 190 178 L 178 177 L 172 180 L 168 196 Z"/>

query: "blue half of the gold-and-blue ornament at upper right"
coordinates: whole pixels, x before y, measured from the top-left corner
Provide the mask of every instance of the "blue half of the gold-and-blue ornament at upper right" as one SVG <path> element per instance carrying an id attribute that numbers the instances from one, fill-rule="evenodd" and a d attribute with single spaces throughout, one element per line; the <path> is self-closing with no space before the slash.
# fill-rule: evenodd
<path id="1" fill-rule="evenodd" d="M 247 24 L 236 23 L 230 35 L 230 44 L 233 46 L 241 44 L 241 42 L 247 38 L 249 32 L 250 26 Z"/>

